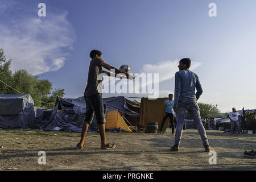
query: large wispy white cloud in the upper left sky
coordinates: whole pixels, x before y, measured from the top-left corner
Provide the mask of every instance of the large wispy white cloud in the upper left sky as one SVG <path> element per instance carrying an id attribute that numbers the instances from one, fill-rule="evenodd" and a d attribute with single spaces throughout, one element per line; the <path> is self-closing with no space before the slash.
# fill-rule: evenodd
<path id="1" fill-rule="evenodd" d="M 9 25 L 0 23 L 0 43 L 11 70 L 26 69 L 33 75 L 58 71 L 64 65 L 64 49 L 75 40 L 67 12 L 51 17 L 22 17 Z"/>

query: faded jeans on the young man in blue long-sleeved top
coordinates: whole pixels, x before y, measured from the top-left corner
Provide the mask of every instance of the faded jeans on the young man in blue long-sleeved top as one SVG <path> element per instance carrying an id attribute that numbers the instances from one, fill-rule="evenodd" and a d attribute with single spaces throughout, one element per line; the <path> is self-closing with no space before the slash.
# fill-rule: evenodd
<path id="1" fill-rule="evenodd" d="M 175 144 L 180 144 L 180 140 L 183 133 L 183 125 L 184 125 L 186 110 L 188 110 L 189 113 L 192 115 L 193 121 L 196 124 L 200 137 L 203 140 L 203 144 L 204 145 L 209 144 L 207 139 L 207 134 L 205 133 L 205 129 L 201 121 L 200 110 L 196 102 L 196 99 L 181 97 L 177 104 L 177 110 L 178 110 L 178 113 L 176 113 L 177 127 L 176 127 L 176 134 L 175 134 Z"/>

